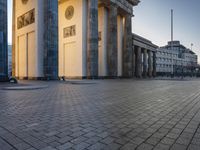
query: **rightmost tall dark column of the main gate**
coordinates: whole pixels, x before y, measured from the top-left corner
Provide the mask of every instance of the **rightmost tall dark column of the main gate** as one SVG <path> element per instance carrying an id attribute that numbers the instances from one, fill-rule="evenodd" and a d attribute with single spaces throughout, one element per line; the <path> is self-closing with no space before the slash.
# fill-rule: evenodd
<path id="1" fill-rule="evenodd" d="M 124 50 L 123 50 L 123 76 L 132 77 L 132 25 L 131 25 L 131 14 L 125 16 L 124 26 Z"/>

